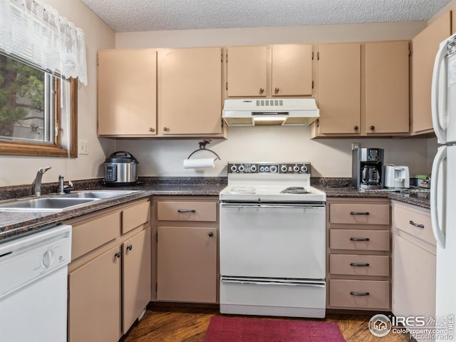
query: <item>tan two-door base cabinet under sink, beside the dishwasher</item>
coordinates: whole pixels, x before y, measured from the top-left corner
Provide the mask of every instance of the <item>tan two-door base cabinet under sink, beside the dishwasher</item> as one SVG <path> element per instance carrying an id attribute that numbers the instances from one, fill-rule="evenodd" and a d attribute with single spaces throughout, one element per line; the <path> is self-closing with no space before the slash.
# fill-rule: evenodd
<path id="1" fill-rule="evenodd" d="M 117 342 L 150 302 L 149 222 L 149 200 L 68 222 L 68 342 Z"/>

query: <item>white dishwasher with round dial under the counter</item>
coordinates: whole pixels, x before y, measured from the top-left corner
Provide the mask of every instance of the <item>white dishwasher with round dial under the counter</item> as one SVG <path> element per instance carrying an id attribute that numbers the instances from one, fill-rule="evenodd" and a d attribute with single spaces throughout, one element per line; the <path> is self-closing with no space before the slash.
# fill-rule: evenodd
<path id="1" fill-rule="evenodd" d="M 65 342 L 71 226 L 0 244 L 0 341 Z"/>

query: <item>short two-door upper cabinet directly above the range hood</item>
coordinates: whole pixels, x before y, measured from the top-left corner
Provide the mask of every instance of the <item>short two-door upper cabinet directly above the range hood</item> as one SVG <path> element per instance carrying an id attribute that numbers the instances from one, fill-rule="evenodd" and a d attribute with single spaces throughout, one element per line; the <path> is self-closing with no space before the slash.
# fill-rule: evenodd
<path id="1" fill-rule="evenodd" d="M 312 95 L 312 46 L 227 48 L 227 97 Z"/>

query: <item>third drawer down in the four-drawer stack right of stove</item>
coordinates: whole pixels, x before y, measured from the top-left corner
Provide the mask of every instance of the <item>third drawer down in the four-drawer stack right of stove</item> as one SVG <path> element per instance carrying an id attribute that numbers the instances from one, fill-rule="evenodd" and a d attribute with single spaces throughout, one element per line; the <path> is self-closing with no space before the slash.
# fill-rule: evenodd
<path id="1" fill-rule="evenodd" d="M 390 276 L 387 255 L 331 254 L 329 272 L 353 276 Z"/>

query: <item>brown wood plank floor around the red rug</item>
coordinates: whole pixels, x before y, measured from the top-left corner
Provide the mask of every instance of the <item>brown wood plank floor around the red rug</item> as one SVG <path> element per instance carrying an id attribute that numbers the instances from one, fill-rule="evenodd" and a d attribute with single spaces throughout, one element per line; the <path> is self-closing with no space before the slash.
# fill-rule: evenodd
<path id="1" fill-rule="evenodd" d="M 224 315 L 220 314 L 218 309 L 212 308 L 150 306 L 142 320 L 135 323 L 128 334 L 123 337 L 122 342 L 202 342 L 212 316 Z M 373 336 L 368 330 L 368 321 L 371 316 L 328 314 L 323 321 L 337 322 L 347 342 L 409 341 L 406 336 L 393 333 L 389 333 L 383 338 Z"/>

